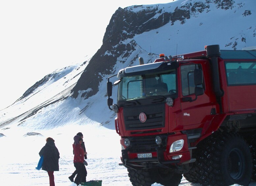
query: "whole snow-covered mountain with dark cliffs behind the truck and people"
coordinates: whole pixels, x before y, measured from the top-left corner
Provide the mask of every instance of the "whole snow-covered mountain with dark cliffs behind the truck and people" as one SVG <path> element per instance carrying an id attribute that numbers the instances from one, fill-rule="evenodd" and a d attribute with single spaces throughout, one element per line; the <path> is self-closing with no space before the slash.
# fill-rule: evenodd
<path id="1" fill-rule="evenodd" d="M 151 63 L 159 53 L 199 51 L 210 44 L 230 50 L 254 46 L 254 7 L 255 0 L 174 0 L 119 8 L 92 58 L 46 75 L 0 111 L 0 133 L 6 135 L 11 127 L 31 132 L 85 123 L 113 129 L 115 113 L 106 104 L 107 77 L 138 65 L 138 57 Z"/>

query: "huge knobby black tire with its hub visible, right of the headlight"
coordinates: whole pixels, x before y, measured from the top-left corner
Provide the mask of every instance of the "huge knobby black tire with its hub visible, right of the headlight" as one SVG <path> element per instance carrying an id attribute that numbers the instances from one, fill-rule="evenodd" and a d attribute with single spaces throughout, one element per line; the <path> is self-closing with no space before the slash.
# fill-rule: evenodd
<path id="1" fill-rule="evenodd" d="M 240 135 L 216 132 L 208 137 L 204 147 L 195 162 L 201 185 L 245 186 L 250 183 L 251 153 Z"/>

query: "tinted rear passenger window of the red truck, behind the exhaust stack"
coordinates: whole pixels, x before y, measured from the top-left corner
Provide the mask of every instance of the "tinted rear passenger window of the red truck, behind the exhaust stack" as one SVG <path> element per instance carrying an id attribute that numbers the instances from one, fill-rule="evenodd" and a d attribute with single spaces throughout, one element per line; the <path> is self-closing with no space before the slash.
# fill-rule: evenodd
<path id="1" fill-rule="evenodd" d="M 228 86 L 256 84 L 256 62 L 225 62 Z"/>

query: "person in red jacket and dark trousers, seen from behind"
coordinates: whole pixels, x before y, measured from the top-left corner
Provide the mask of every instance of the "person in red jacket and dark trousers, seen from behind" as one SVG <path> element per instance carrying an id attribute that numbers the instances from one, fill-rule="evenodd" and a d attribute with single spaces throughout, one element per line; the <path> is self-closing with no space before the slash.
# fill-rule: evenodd
<path id="1" fill-rule="evenodd" d="M 84 160 L 84 149 L 82 147 L 82 138 L 78 135 L 74 136 L 74 167 L 77 171 L 77 175 L 75 177 L 76 185 L 79 185 L 81 182 L 86 182 L 87 171 L 85 168 L 85 160 Z"/>

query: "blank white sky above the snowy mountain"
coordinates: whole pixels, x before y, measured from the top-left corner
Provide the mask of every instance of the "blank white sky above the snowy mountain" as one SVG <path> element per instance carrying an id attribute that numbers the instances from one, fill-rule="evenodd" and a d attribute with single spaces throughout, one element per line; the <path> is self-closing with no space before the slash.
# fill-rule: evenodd
<path id="1" fill-rule="evenodd" d="M 93 56 L 121 7 L 171 0 L 0 0 L 0 110 L 45 75 Z"/>

